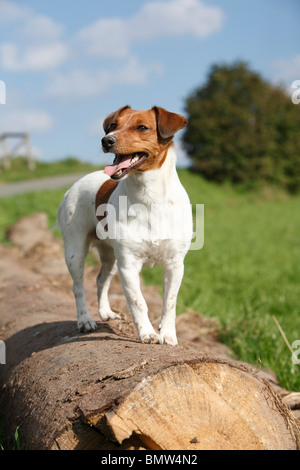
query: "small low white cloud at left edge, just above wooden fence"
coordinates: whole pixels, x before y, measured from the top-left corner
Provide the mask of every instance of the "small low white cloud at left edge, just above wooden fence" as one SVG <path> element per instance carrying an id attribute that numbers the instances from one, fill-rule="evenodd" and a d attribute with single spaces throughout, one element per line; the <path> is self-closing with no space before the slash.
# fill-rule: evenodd
<path id="1" fill-rule="evenodd" d="M 43 133 L 52 127 L 53 119 L 45 111 L 22 109 L 5 111 L 0 115 L 1 132 Z"/>

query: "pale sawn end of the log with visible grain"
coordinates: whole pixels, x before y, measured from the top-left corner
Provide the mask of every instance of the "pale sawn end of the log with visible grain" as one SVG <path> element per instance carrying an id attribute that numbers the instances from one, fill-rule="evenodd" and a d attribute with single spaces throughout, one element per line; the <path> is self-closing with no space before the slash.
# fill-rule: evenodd
<path id="1" fill-rule="evenodd" d="M 72 448 L 72 440 L 76 448 L 97 449 L 296 450 L 299 445 L 292 415 L 267 382 L 234 363 L 209 358 L 144 377 L 120 403 L 85 419 L 88 438 L 69 429 L 52 448 Z"/>

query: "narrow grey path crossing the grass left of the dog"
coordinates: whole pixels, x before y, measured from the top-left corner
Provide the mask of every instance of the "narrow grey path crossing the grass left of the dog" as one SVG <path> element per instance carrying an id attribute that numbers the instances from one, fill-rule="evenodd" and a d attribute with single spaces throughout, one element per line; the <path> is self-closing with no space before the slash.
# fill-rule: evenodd
<path id="1" fill-rule="evenodd" d="M 44 189 L 59 189 L 71 186 L 86 173 L 72 173 L 69 175 L 51 176 L 17 183 L 0 183 L 0 198 L 14 196 L 16 194 L 32 191 L 43 191 Z"/>

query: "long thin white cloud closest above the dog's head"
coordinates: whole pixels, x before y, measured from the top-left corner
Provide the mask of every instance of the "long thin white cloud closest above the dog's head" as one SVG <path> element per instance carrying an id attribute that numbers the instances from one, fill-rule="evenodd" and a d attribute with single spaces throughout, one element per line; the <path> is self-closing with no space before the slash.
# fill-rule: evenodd
<path id="1" fill-rule="evenodd" d="M 63 97 L 102 95 L 116 85 L 144 85 L 150 76 L 162 72 L 162 66 L 158 63 L 143 65 L 136 57 L 129 57 L 125 64 L 115 69 L 93 73 L 77 69 L 65 75 L 54 74 L 46 93 Z"/>

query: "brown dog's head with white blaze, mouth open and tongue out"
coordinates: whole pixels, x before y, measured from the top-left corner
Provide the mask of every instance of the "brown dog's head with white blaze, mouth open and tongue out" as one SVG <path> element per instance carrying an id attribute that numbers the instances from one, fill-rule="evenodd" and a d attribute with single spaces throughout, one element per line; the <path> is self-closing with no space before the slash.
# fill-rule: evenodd
<path id="1" fill-rule="evenodd" d="M 115 159 L 105 173 L 120 180 L 136 170 L 160 168 L 174 134 L 186 124 L 183 116 L 157 106 L 148 111 L 124 106 L 111 113 L 103 123 L 102 147 L 105 153 L 114 153 Z"/>

